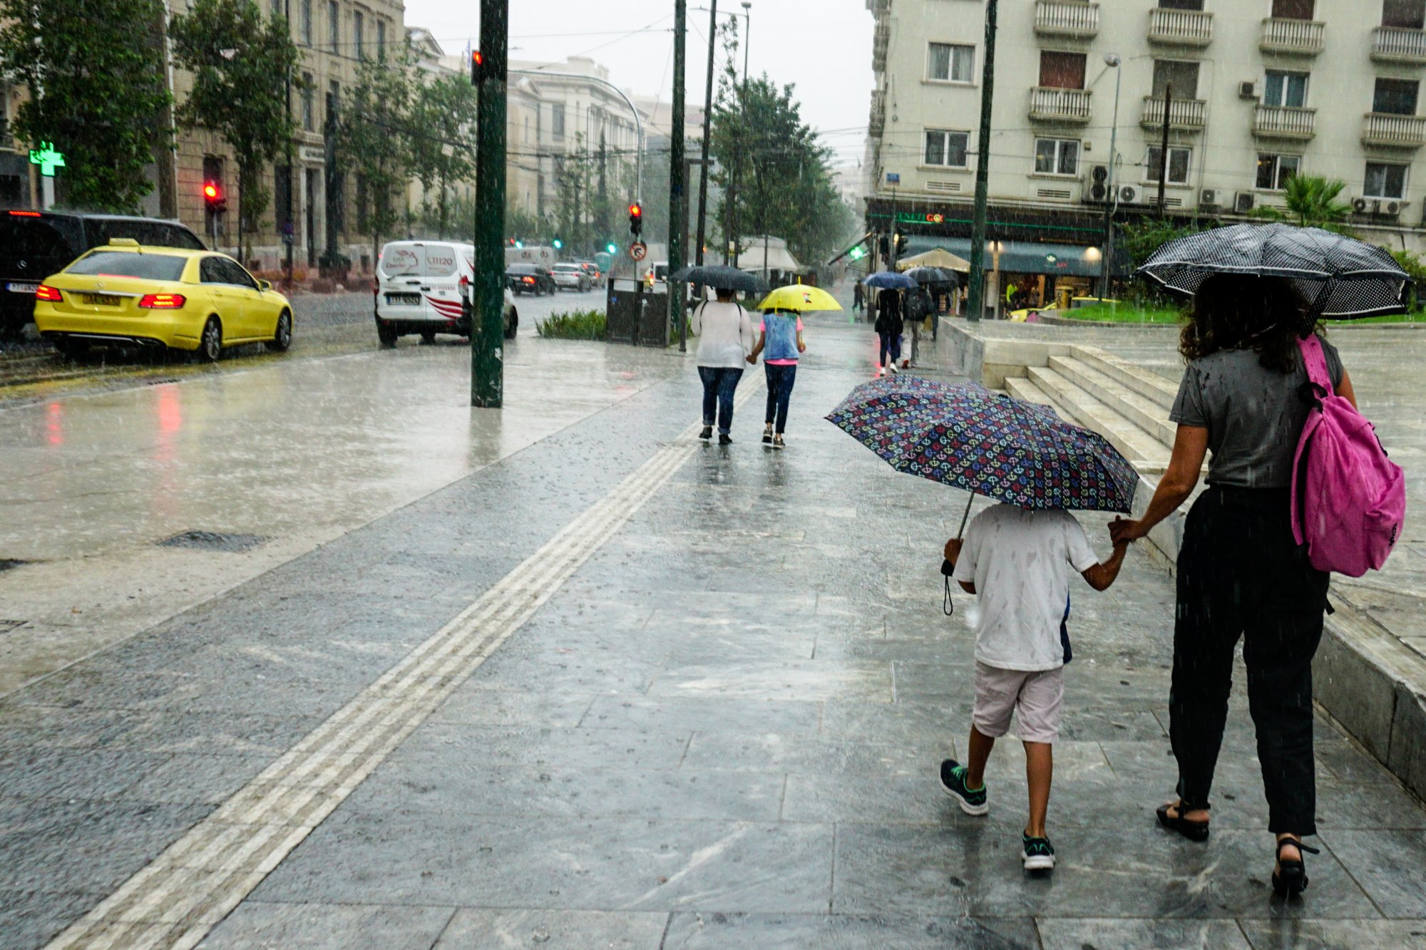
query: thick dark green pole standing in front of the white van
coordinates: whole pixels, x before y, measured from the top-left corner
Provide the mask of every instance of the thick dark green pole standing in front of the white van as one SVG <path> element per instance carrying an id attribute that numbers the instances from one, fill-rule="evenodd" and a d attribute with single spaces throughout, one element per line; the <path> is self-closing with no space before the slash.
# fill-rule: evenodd
<path id="1" fill-rule="evenodd" d="M 475 131 L 475 295 L 471 314 L 471 405 L 505 404 L 505 80 L 511 0 L 481 0 Z"/>

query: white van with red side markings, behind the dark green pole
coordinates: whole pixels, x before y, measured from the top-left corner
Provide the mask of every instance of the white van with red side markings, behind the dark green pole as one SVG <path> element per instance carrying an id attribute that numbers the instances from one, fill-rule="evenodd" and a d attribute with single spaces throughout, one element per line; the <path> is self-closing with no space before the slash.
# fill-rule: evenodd
<path id="1" fill-rule="evenodd" d="M 389 241 L 376 258 L 376 338 L 394 347 L 399 337 L 471 335 L 471 281 L 475 247 L 453 241 Z M 515 297 L 505 291 L 505 338 L 519 327 Z"/>

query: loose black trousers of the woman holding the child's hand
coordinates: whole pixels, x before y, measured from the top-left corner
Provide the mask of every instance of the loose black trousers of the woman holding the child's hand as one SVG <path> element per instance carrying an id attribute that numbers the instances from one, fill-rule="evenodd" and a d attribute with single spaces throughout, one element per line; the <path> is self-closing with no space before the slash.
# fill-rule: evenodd
<path id="1" fill-rule="evenodd" d="M 1326 592 L 1328 575 L 1292 541 L 1288 489 L 1209 488 L 1194 504 L 1178 555 L 1168 700 L 1185 810 L 1209 807 L 1242 636 L 1268 829 L 1316 833 L 1312 656 Z"/>

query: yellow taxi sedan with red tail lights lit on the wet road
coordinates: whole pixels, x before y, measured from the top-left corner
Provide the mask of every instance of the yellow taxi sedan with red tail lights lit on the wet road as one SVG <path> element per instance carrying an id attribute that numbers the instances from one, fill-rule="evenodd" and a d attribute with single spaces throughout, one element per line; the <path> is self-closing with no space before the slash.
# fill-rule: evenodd
<path id="1" fill-rule="evenodd" d="M 90 344 L 197 351 L 212 362 L 224 347 L 292 345 L 292 307 L 227 254 L 141 247 L 114 238 L 44 278 L 34 325 L 66 355 Z"/>

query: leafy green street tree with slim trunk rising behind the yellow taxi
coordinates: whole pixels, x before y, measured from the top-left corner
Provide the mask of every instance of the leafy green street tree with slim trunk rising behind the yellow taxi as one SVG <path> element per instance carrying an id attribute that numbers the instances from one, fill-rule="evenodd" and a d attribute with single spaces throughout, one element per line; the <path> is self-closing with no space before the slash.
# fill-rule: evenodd
<path id="1" fill-rule="evenodd" d="M 238 255 L 257 230 L 271 193 L 262 168 L 277 161 L 297 131 L 287 84 L 298 51 L 287 20 L 264 21 L 252 0 L 194 0 L 170 26 L 174 58 L 193 73 L 193 91 L 178 121 L 222 137 L 238 165 Z"/>

